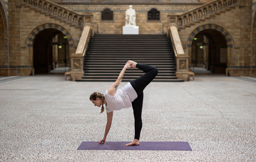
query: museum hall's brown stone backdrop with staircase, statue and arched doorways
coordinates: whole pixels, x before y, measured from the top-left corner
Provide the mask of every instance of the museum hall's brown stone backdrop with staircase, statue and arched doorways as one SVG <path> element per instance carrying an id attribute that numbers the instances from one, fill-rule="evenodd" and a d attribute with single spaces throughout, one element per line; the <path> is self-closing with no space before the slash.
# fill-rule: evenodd
<path id="1" fill-rule="evenodd" d="M 0 11 L 0 76 L 113 82 L 127 60 L 157 67 L 156 82 L 256 76 L 256 0 L 1 0 Z"/>

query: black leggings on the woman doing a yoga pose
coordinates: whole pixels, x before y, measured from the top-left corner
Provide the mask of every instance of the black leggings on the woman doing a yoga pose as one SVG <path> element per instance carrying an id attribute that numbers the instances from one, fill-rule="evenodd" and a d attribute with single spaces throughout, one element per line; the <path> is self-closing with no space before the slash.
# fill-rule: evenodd
<path id="1" fill-rule="evenodd" d="M 132 80 L 130 83 L 136 91 L 138 97 L 132 102 L 133 114 L 135 119 L 135 137 L 134 139 L 140 139 L 140 131 L 142 128 L 142 106 L 143 106 L 143 90 L 158 74 L 158 69 L 154 66 L 137 64 L 136 67 L 145 72 L 139 78 Z"/>

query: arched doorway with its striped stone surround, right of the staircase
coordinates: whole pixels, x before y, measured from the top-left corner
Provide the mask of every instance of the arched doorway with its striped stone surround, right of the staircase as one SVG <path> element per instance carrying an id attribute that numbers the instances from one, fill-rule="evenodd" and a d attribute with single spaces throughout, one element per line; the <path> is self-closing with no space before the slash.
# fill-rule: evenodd
<path id="1" fill-rule="evenodd" d="M 187 40 L 189 68 L 202 69 L 196 73 L 224 74 L 229 67 L 233 43 L 231 35 L 222 26 L 216 24 L 199 26 Z"/>

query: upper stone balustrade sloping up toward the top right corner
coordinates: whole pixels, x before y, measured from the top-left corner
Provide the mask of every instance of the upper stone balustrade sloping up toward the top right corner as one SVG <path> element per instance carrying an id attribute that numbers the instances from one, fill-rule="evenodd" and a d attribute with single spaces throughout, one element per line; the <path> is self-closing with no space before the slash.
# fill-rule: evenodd
<path id="1" fill-rule="evenodd" d="M 178 27 L 185 27 L 186 25 L 194 23 L 195 21 L 231 8 L 234 5 L 237 5 L 238 1 L 239 0 L 216 0 L 209 2 L 181 15 L 168 15 L 168 23 L 172 25 L 176 24 Z"/>

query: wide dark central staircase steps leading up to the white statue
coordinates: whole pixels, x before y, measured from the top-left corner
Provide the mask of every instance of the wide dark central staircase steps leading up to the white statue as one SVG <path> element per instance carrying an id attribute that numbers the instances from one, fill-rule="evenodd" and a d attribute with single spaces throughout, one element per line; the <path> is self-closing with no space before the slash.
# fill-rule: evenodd
<path id="1" fill-rule="evenodd" d="M 95 35 L 84 57 L 84 76 L 76 81 L 115 82 L 127 60 L 157 67 L 154 81 L 183 81 L 175 75 L 174 51 L 166 35 Z M 127 69 L 123 81 L 142 74 L 141 70 Z"/>

